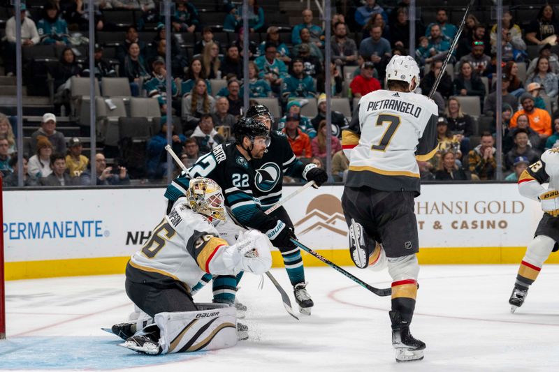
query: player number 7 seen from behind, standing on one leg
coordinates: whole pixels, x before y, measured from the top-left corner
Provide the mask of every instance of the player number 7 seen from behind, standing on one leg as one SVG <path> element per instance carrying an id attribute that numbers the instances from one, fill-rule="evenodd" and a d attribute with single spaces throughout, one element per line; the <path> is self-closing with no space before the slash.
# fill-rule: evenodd
<path id="1" fill-rule="evenodd" d="M 392 278 L 389 317 L 397 362 L 423 359 L 425 343 L 409 331 L 417 294 L 419 252 L 414 198 L 420 193 L 417 161 L 437 151 L 437 105 L 415 94 L 419 68 L 395 55 L 386 66 L 385 87 L 361 98 L 342 147 L 349 172 L 342 207 L 354 264 L 388 267 Z"/>

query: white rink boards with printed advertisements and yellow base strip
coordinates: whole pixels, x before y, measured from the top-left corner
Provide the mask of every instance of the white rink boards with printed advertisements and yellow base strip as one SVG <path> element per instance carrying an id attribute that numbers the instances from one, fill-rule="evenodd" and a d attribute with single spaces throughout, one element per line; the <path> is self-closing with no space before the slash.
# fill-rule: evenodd
<path id="1" fill-rule="evenodd" d="M 297 186 L 284 187 L 284 195 Z M 298 239 L 337 265 L 352 265 L 342 186 L 309 189 L 286 203 Z M 6 278 L 119 274 L 150 236 L 162 188 L 4 191 Z M 516 184 L 424 185 L 415 210 L 423 264 L 518 263 L 542 211 Z M 323 265 L 303 253 L 305 265 Z M 279 252 L 274 265 L 281 266 Z M 551 255 L 548 262 L 559 262 Z"/>

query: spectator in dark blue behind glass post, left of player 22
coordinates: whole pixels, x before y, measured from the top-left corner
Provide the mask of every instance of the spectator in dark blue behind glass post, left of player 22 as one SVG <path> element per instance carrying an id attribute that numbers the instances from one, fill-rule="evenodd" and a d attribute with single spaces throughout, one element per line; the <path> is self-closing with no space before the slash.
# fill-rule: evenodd
<path id="1" fill-rule="evenodd" d="M 187 140 L 182 134 L 177 134 L 171 124 L 171 148 L 173 152 L 179 155 L 182 151 L 182 144 Z M 148 179 L 161 179 L 168 172 L 167 151 L 167 120 L 161 117 L 161 130 L 147 141 L 145 151 L 145 170 Z M 173 167 L 173 165 L 171 165 Z"/>

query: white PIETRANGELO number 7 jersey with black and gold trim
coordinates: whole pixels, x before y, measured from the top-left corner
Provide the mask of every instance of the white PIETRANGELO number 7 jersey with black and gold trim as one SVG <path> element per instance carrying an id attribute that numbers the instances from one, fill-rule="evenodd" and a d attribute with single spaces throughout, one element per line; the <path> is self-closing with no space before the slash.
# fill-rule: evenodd
<path id="1" fill-rule="evenodd" d="M 363 96 L 342 133 L 346 186 L 419 195 L 416 160 L 435 155 L 437 119 L 437 105 L 421 94 L 378 90 Z"/>

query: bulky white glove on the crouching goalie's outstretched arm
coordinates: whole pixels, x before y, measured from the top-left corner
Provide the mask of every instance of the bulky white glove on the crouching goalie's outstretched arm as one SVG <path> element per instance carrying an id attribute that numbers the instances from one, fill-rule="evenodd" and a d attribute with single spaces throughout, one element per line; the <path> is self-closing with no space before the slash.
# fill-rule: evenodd
<path id="1" fill-rule="evenodd" d="M 270 248 L 270 241 L 261 232 L 241 232 L 237 243 L 226 248 L 223 260 L 231 269 L 263 274 L 272 267 Z"/>

